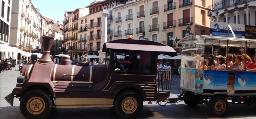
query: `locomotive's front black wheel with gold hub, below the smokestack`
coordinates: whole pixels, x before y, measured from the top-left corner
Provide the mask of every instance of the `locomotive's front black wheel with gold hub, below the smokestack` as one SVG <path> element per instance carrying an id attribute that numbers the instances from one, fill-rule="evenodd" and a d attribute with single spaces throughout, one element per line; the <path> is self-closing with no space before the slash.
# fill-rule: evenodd
<path id="1" fill-rule="evenodd" d="M 31 90 L 22 97 L 19 109 L 27 119 L 45 119 L 53 110 L 52 97 L 44 90 Z"/>

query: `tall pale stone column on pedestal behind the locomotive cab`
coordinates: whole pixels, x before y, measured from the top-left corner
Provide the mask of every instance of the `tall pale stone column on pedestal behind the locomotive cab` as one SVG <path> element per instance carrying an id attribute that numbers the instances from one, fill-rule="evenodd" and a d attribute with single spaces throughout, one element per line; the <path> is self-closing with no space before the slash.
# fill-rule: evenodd
<path id="1" fill-rule="evenodd" d="M 101 12 L 102 14 L 102 30 L 101 30 L 101 42 L 100 42 L 100 51 L 99 51 L 99 64 L 104 65 L 105 64 L 105 52 L 102 52 L 102 48 L 104 43 L 107 42 L 107 25 L 108 25 L 108 14 L 109 11 L 103 10 Z"/>

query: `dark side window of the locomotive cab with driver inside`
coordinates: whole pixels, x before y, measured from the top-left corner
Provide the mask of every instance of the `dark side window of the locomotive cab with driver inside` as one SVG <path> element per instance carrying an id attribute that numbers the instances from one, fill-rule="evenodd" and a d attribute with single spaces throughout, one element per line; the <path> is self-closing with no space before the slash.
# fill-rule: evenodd
<path id="1" fill-rule="evenodd" d="M 154 53 L 152 52 L 115 52 L 114 70 L 127 73 L 153 73 Z"/>

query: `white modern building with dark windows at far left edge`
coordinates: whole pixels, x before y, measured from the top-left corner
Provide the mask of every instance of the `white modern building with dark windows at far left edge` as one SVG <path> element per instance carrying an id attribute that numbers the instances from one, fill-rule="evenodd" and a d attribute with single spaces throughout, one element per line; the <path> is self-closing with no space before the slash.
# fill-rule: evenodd
<path id="1" fill-rule="evenodd" d="M 2 0 L 1 17 L 0 17 L 0 44 L 9 45 L 10 41 L 10 24 L 12 13 L 12 0 Z M 4 59 L 4 52 L 0 52 L 0 60 Z"/>

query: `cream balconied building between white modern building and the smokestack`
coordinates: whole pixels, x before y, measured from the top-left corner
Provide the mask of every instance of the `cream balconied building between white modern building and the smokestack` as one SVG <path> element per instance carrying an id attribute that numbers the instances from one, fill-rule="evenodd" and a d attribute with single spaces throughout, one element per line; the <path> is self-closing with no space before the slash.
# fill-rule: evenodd
<path id="1" fill-rule="evenodd" d="M 41 15 L 31 0 L 13 0 L 10 46 L 26 52 L 38 52 Z M 17 57 L 21 57 L 19 54 Z M 14 58 L 17 58 L 14 57 Z"/>

